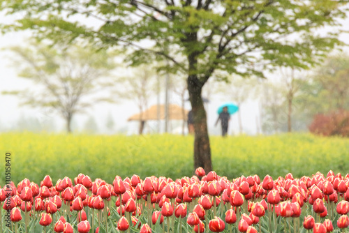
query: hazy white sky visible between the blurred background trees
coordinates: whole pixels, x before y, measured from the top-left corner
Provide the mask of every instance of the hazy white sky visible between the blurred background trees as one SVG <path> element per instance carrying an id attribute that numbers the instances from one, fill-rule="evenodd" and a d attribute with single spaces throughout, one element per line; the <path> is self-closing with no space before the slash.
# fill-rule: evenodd
<path id="1" fill-rule="evenodd" d="M 0 23 L 3 23 L 4 18 L 0 17 Z M 8 19 L 6 20 L 8 21 Z M 342 29 L 349 31 L 349 19 L 343 20 Z M 327 31 L 324 29 L 323 31 Z M 329 29 L 332 30 L 332 29 Z M 1 91 L 13 91 L 18 89 L 30 88 L 35 89 L 36 86 L 31 82 L 17 77 L 17 70 L 10 61 L 11 53 L 6 51 L 7 47 L 14 45 L 26 45 L 25 40 L 29 37 L 29 32 L 17 32 L 7 33 L 6 35 L 0 35 L 0 93 Z M 349 33 L 343 33 L 340 39 L 349 44 Z M 348 51 L 348 50 L 346 50 Z M 171 94 L 172 98 L 170 103 L 179 104 L 179 99 L 174 98 L 174 94 Z M 164 94 L 161 96 L 164 100 Z M 216 110 L 221 103 L 229 100 L 223 100 L 221 95 L 212 95 L 210 103 L 208 104 L 208 125 L 211 134 L 218 134 L 220 132 L 219 127 L 214 127 L 216 121 Z M 44 121 L 57 121 L 59 129 L 63 128 L 64 121 L 57 117 L 57 114 L 45 114 L 43 110 L 33 110 L 29 107 L 19 105 L 19 99 L 16 96 L 0 95 L 0 128 L 10 128 L 13 126 L 20 116 L 36 117 L 40 122 Z M 163 101 L 162 101 L 163 103 Z M 149 106 L 156 104 L 156 96 L 149 101 Z M 186 109 L 190 110 L 191 106 L 187 102 Z M 137 133 L 138 123 L 127 122 L 127 118 L 132 114 L 138 113 L 137 105 L 131 100 L 121 100 L 117 104 L 98 104 L 95 107 L 87 110 L 87 114 L 77 114 L 75 122 L 81 127 L 87 120 L 87 117 L 93 116 L 100 128 L 105 126 L 105 119 L 107 114 L 112 114 L 114 123 L 117 129 L 127 128 L 129 133 Z M 256 133 L 256 119 L 259 116 L 258 101 L 249 101 L 242 105 L 242 123 L 244 126 L 244 132 L 248 134 Z M 152 128 L 156 128 L 155 123 L 151 123 Z M 163 126 L 162 126 L 163 127 Z M 173 126 L 175 127 L 175 126 Z M 180 133 L 181 124 L 177 125 L 177 131 Z M 237 133 L 238 123 L 237 114 L 232 115 L 232 121 L 230 122 L 230 133 L 234 131 Z"/>

